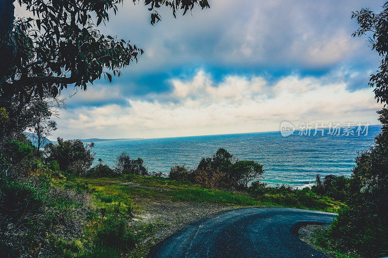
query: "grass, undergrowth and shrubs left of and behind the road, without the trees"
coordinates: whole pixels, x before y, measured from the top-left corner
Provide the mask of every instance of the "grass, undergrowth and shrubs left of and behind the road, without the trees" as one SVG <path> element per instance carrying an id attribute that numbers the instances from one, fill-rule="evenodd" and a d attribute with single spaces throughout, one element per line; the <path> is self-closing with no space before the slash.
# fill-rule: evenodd
<path id="1" fill-rule="evenodd" d="M 255 176 L 253 166 L 261 169 L 261 165 L 232 160 L 232 155 L 223 149 L 208 161 L 202 159 L 200 164 L 203 166 L 205 160 L 207 171 L 224 171 L 220 181 L 226 185 L 224 188 L 209 187 L 208 182 L 214 179 L 207 179 L 206 175 L 214 177 L 213 172 L 202 175 L 204 181 L 189 182 L 198 180 L 198 172 L 187 171 L 184 166 L 171 169 L 176 169 L 176 177 L 183 177 L 184 181 L 141 175 L 141 171 L 143 174 L 146 171 L 141 167 L 142 162 L 137 162 L 141 159 L 131 160 L 125 153 L 118 157 L 124 169 L 112 169 L 101 159 L 88 169 L 94 159 L 92 146 L 77 140 L 59 138 L 58 144 L 48 144 L 42 155 L 31 141 L 20 135 L 5 149 L 8 151 L 0 159 L 1 256 L 144 255 L 146 247 L 142 241 L 162 226 L 133 220 L 142 212 L 136 198 L 329 212 L 343 206 L 328 197 L 319 197 L 309 188 L 267 187 L 259 181 L 246 187 L 251 174 Z M 82 164 L 81 168 L 76 170 L 74 163 Z M 201 166 L 198 171 L 203 171 Z M 234 182 L 227 184 L 226 175 Z"/>

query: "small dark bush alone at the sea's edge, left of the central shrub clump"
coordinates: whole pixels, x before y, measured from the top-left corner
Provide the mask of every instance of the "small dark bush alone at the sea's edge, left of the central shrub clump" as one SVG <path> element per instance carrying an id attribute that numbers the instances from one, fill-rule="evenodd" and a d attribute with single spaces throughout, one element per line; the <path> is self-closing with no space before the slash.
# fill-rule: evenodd
<path id="1" fill-rule="evenodd" d="M 143 166 L 141 158 L 130 159 L 130 156 L 123 152 L 116 159 L 115 170 L 120 174 L 147 175 L 147 169 Z"/>

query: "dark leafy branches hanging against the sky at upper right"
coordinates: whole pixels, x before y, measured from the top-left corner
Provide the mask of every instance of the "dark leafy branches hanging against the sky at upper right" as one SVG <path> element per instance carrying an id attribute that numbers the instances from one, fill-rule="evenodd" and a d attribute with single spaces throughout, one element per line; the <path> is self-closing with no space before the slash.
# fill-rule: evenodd
<path id="1" fill-rule="evenodd" d="M 379 70 L 372 74 L 369 85 L 374 88 L 377 102 L 388 103 L 388 2 L 383 5 L 384 10 L 375 14 L 368 8 L 362 8 L 360 11 L 352 12 L 352 18 L 356 18 L 359 24 L 352 36 L 360 37 L 365 34 L 371 34 L 369 44 L 382 57 Z"/>

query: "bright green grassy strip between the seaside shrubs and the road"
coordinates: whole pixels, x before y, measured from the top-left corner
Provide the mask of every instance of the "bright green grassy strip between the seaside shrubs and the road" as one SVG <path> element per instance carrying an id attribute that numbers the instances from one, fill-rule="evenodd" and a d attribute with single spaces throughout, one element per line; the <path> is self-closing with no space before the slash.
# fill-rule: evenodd
<path id="1" fill-rule="evenodd" d="M 160 177 L 126 176 L 118 178 L 76 178 L 77 183 L 86 184 L 89 189 L 110 196 L 114 202 L 130 202 L 135 197 L 150 200 L 217 203 L 228 206 L 282 206 L 301 209 L 337 212 L 342 203 L 326 197 L 295 195 L 290 193 L 265 194 L 251 197 L 243 192 L 229 192 L 206 189 L 188 182 L 178 182 Z M 65 181 L 59 181 L 64 184 Z M 109 201 L 109 200 L 108 200 Z M 103 206 L 96 200 L 97 207 Z M 132 205 L 136 206 L 132 202 Z"/>

